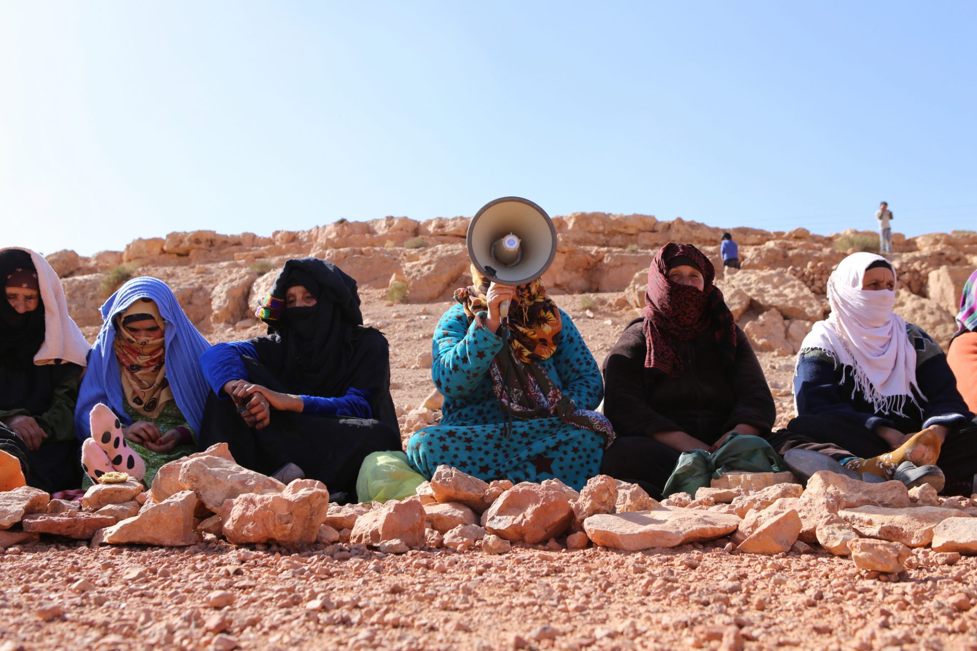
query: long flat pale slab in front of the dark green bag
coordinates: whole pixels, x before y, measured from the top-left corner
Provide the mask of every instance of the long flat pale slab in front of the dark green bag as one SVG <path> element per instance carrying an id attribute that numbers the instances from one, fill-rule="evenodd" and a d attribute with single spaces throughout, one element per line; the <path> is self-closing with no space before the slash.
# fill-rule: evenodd
<path id="1" fill-rule="evenodd" d="M 736 515 L 662 507 L 591 515 L 583 521 L 583 530 L 595 545 L 637 551 L 715 540 L 732 533 L 739 524 Z"/>

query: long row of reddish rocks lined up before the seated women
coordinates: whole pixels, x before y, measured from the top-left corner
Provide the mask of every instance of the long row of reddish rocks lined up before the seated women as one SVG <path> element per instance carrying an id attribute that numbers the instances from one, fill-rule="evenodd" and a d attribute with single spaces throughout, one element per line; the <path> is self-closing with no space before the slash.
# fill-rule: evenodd
<path id="1" fill-rule="evenodd" d="M 441 466 L 403 501 L 328 501 L 319 481 L 285 486 L 236 465 L 219 444 L 161 468 L 149 491 L 133 481 L 102 484 L 81 504 L 51 500 L 29 487 L 0 493 L 0 547 L 36 541 L 39 534 L 91 539 L 92 545 L 175 547 L 219 537 L 234 545 L 340 543 L 388 553 L 504 553 L 513 545 L 583 549 L 591 543 L 636 551 L 711 541 L 743 553 L 823 548 L 884 573 L 907 562 L 953 562 L 961 553 L 977 553 L 974 499 L 828 471 L 815 473 L 806 488 L 789 472 L 730 473 L 695 496 L 679 493 L 659 504 L 641 487 L 606 475 L 577 492 L 557 479 L 485 482 Z M 911 549 L 923 548 L 929 555 L 911 556 Z"/>

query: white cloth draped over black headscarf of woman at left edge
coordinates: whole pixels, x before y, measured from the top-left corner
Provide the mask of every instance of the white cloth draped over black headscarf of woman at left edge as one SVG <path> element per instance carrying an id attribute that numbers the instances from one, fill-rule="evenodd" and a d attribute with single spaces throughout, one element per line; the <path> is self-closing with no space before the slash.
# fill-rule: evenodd
<path id="1" fill-rule="evenodd" d="M 85 366 L 88 351 L 92 346 L 88 345 L 74 319 L 68 314 L 64 288 L 58 274 L 43 256 L 30 249 L 8 246 L 0 249 L 0 252 L 12 249 L 30 254 L 30 261 L 37 269 L 37 284 L 41 288 L 41 300 L 44 301 L 44 343 L 34 355 L 34 363 L 54 364 L 55 360 L 61 359 Z"/>

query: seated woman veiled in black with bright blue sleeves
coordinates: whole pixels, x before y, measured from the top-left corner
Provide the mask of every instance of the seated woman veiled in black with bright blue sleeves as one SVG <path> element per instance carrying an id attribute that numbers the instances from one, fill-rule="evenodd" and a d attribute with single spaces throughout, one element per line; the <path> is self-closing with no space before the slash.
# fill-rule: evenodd
<path id="1" fill-rule="evenodd" d="M 357 281 L 324 260 L 289 260 L 256 315 L 268 337 L 200 357 L 213 389 L 200 446 L 227 442 L 245 468 L 353 499 L 363 458 L 401 449 L 387 340 L 363 327 Z"/>

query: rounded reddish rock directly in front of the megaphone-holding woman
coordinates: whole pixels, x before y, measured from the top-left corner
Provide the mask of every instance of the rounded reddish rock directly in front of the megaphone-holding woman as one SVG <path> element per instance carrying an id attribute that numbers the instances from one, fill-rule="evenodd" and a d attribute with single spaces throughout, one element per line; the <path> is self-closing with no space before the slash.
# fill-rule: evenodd
<path id="1" fill-rule="evenodd" d="M 573 520 L 567 495 L 521 482 L 502 493 L 483 516 L 483 526 L 512 543 L 542 543 L 563 534 Z"/>

